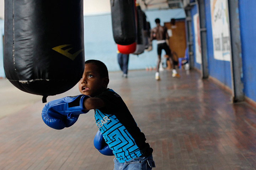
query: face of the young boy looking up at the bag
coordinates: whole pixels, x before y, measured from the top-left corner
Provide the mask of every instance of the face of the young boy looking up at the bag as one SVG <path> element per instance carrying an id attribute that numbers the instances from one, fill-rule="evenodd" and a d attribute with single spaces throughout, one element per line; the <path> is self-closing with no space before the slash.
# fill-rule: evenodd
<path id="1" fill-rule="evenodd" d="M 108 85 L 108 78 L 101 78 L 98 68 L 94 64 L 85 64 L 84 74 L 78 83 L 81 94 L 95 97 Z"/>

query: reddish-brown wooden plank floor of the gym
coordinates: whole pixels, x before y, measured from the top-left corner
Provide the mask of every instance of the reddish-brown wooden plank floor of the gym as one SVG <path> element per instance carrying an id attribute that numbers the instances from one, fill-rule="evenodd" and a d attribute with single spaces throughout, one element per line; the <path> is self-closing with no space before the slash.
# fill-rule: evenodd
<path id="1" fill-rule="evenodd" d="M 128 79 L 110 73 L 108 87 L 127 103 L 154 149 L 155 170 L 256 169 L 256 110 L 232 104 L 230 94 L 195 70 L 178 71 L 180 79 L 160 72 L 161 81 L 154 71 L 130 71 Z M 75 86 L 48 101 L 77 94 Z M 113 169 L 113 157 L 93 146 L 93 111 L 70 128 L 54 130 L 42 121 L 43 106 L 37 100 L 0 119 L 1 170 Z"/>

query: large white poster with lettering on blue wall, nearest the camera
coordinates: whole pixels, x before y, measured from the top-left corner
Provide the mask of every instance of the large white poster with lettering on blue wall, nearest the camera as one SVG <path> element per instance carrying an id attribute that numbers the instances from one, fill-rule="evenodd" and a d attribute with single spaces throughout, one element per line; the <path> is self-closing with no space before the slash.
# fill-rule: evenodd
<path id="1" fill-rule="evenodd" d="M 210 0 L 214 59 L 230 61 L 228 0 Z"/>

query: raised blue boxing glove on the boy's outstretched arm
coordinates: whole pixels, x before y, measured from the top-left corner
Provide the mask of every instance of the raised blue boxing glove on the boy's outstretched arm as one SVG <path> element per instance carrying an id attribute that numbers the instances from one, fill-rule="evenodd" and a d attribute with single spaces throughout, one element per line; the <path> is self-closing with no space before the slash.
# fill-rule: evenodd
<path id="1" fill-rule="evenodd" d="M 84 100 L 90 96 L 67 96 L 48 102 L 42 110 L 42 119 L 53 129 L 64 129 L 72 126 L 84 111 Z"/>

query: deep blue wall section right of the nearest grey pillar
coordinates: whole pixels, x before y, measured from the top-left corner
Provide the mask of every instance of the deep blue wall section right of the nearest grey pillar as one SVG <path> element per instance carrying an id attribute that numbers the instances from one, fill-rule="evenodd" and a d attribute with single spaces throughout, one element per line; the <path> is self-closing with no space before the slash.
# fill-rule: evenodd
<path id="1" fill-rule="evenodd" d="M 256 1 L 239 1 L 244 93 L 256 101 Z"/>

